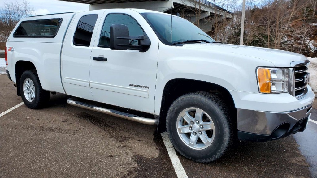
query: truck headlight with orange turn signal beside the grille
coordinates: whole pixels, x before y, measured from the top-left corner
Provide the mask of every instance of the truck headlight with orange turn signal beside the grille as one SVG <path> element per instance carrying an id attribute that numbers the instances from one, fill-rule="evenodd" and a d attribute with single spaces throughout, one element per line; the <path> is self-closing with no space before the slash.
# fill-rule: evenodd
<path id="1" fill-rule="evenodd" d="M 260 93 L 288 92 L 288 68 L 257 68 Z"/>

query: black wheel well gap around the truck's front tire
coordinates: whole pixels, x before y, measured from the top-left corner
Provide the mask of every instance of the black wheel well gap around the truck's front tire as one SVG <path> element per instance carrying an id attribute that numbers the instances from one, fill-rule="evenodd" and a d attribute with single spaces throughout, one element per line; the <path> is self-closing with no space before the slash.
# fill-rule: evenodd
<path id="1" fill-rule="evenodd" d="M 234 124 L 233 129 L 237 128 L 236 106 L 233 97 L 225 87 L 196 79 L 171 79 L 165 84 L 162 94 L 158 132 L 163 132 L 166 129 L 166 114 L 171 104 L 178 97 L 190 92 L 210 92 L 217 94 L 224 100 L 230 110 L 230 118 Z"/>

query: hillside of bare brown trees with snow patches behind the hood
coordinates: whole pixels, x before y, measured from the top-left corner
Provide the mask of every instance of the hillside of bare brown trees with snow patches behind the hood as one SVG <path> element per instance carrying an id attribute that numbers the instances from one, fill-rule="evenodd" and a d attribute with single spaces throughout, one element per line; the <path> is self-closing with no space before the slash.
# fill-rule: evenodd
<path id="1" fill-rule="evenodd" d="M 210 35 L 217 41 L 239 44 L 241 4 L 237 0 L 212 1 L 233 11 L 234 18 L 216 21 Z M 317 57 L 316 10 L 317 0 L 247 0 L 243 45 Z"/>

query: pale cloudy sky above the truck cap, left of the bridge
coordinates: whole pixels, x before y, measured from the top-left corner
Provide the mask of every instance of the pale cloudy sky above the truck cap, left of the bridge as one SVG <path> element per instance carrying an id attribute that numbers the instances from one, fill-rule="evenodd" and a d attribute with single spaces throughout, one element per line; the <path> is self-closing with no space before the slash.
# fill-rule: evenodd
<path id="1" fill-rule="evenodd" d="M 0 6 L 3 2 L 15 0 L 0 0 Z M 21 1 L 21 0 L 17 0 Z M 81 3 L 71 3 L 57 0 L 28 0 L 31 6 L 34 7 L 36 15 L 53 14 L 61 12 L 82 12 L 87 11 L 89 5 Z"/>

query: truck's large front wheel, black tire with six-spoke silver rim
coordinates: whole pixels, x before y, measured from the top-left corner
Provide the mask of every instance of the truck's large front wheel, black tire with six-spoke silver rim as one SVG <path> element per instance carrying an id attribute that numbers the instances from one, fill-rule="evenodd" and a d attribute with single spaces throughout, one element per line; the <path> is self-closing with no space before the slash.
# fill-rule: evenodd
<path id="1" fill-rule="evenodd" d="M 199 112 L 204 114 L 196 115 Z M 193 124 L 186 120 L 193 121 Z M 192 92 L 176 99 L 167 112 L 166 130 L 174 148 L 184 157 L 197 162 L 219 159 L 233 141 L 226 104 L 217 95 L 208 92 Z"/>

